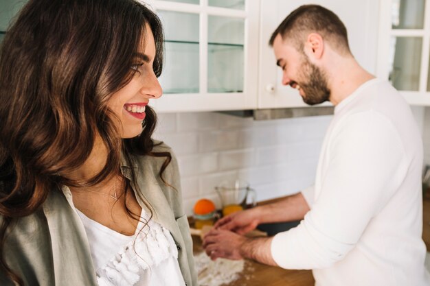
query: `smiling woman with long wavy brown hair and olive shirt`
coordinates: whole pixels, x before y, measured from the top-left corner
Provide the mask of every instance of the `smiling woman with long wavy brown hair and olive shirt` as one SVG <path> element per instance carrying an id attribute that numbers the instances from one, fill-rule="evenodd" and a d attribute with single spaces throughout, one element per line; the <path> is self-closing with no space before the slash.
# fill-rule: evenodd
<path id="1" fill-rule="evenodd" d="M 196 285 L 152 141 L 163 32 L 134 0 L 30 0 L 0 51 L 0 285 Z"/>

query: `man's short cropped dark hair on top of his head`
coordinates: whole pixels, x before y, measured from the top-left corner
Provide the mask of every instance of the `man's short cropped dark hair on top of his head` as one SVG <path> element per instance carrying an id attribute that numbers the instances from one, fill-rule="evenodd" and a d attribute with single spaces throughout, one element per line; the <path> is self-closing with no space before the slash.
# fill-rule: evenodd
<path id="1" fill-rule="evenodd" d="M 339 53 L 351 53 L 345 25 L 334 12 L 320 5 L 302 5 L 291 12 L 275 29 L 269 45 L 273 46 L 280 34 L 283 40 L 292 40 L 295 48 L 302 51 L 306 36 L 312 32 L 320 34 Z"/>

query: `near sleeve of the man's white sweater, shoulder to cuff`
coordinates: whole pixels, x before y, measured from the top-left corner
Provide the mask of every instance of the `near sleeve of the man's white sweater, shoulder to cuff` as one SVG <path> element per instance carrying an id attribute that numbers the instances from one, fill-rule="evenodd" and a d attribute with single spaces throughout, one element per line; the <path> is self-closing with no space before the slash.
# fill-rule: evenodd
<path id="1" fill-rule="evenodd" d="M 352 115 L 334 129 L 325 152 L 328 161 L 311 211 L 271 243 L 280 267 L 323 268 L 343 259 L 407 172 L 396 129 L 372 111 Z"/>

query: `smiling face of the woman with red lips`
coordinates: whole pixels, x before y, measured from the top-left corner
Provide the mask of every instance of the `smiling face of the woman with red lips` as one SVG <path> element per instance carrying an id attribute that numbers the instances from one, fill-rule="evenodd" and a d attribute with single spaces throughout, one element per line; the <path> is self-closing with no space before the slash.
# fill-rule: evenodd
<path id="1" fill-rule="evenodd" d="M 107 102 L 107 106 L 120 119 L 118 127 L 121 138 L 133 138 L 142 132 L 142 121 L 146 116 L 145 108 L 149 99 L 157 99 L 163 93 L 152 69 L 156 52 L 154 36 L 146 24 L 144 38 L 131 67 L 133 77 Z"/>

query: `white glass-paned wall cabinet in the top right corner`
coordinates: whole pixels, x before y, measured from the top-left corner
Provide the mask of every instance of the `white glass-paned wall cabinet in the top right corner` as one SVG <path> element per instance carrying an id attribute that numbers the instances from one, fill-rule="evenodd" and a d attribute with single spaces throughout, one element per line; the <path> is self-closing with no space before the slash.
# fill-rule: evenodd
<path id="1" fill-rule="evenodd" d="M 429 1 L 381 0 L 377 73 L 413 105 L 430 105 L 429 20 Z"/>

